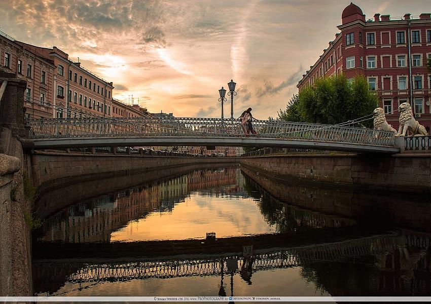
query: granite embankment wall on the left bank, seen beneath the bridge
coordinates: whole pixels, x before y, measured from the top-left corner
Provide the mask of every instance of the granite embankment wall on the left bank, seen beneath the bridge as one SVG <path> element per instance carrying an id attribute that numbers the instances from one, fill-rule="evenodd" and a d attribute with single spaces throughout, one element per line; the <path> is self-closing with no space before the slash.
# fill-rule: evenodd
<path id="1" fill-rule="evenodd" d="M 33 185 L 39 190 L 39 194 L 87 180 L 100 180 L 136 173 L 154 175 L 152 173 L 154 170 L 185 165 L 239 163 L 239 158 L 98 155 L 58 153 L 56 151 L 34 151 L 26 158 Z"/>

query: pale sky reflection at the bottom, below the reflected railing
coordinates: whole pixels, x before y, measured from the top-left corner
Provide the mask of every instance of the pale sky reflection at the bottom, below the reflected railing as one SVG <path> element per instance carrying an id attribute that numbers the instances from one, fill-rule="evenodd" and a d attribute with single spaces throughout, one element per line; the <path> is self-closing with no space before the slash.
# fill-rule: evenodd
<path id="1" fill-rule="evenodd" d="M 179 277 L 169 279 L 131 280 L 117 283 L 85 283 L 92 285 L 77 290 L 79 284 L 67 283 L 54 295 L 63 296 L 218 296 L 220 277 Z M 327 296 L 316 290 L 312 282 L 301 276 L 301 268 L 277 269 L 253 273 L 248 285 L 236 273 L 234 296 Z M 225 274 L 226 294 L 230 295 L 230 275 Z"/>

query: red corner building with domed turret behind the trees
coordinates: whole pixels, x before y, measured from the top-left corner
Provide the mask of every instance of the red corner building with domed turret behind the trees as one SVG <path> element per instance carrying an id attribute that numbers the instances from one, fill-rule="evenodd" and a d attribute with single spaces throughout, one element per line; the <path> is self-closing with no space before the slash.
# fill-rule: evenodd
<path id="1" fill-rule="evenodd" d="M 341 32 L 303 75 L 299 91 L 322 76 L 343 73 L 350 79 L 363 74 L 394 128 L 399 126 L 398 106 L 407 101 L 429 132 L 431 83 L 426 61 L 431 58 L 431 14 L 398 18 L 375 14 L 367 19 L 361 8 L 350 3 L 341 20 Z"/>

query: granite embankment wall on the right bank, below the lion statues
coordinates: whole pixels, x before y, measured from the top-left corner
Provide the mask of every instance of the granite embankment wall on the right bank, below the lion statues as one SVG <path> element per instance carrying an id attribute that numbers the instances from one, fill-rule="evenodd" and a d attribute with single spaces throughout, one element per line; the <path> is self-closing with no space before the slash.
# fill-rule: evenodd
<path id="1" fill-rule="evenodd" d="M 279 155 L 241 158 L 240 163 L 282 179 L 385 191 L 431 191 L 431 154 Z"/>

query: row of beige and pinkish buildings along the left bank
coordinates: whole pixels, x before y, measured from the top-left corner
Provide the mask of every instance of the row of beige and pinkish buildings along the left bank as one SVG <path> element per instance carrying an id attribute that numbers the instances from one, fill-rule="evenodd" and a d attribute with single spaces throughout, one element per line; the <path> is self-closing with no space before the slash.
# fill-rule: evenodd
<path id="1" fill-rule="evenodd" d="M 27 82 L 27 118 L 151 116 L 146 108 L 114 99 L 112 82 L 70 60 L 57 47 L 33 46 L 0 31 L 0 62 L 0 70 Z"/>

